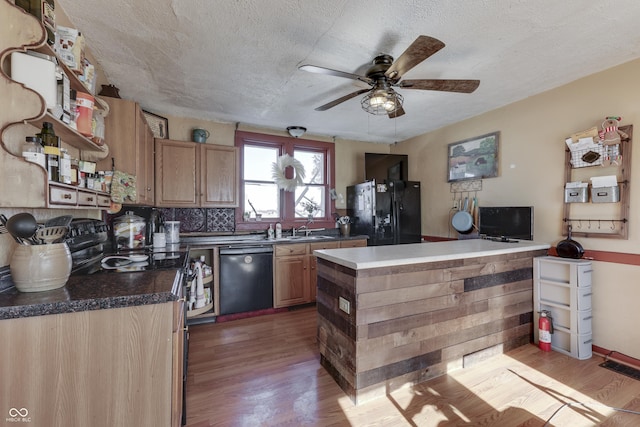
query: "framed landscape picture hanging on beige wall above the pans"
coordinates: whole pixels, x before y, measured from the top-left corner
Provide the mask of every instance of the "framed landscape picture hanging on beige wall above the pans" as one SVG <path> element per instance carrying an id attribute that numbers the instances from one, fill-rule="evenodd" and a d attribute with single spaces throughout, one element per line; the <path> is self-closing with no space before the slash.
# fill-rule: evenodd
<path id="1" fill-rule="evenodd" d="M 499 140 L 493 132 L 449 144 L 447 182 L 498 176 Z"/>

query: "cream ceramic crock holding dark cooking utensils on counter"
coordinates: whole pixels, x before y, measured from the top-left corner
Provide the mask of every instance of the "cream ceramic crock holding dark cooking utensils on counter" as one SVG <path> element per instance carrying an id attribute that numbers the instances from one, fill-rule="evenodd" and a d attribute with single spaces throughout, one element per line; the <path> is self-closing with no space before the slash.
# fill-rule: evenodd
<path id="1" fill-rule="evenodd" d="M 11 279 L 20 292 L 63 287 L 71 274 L 71 252 L 66 243 L 18 245 L 9 264 Z"/>

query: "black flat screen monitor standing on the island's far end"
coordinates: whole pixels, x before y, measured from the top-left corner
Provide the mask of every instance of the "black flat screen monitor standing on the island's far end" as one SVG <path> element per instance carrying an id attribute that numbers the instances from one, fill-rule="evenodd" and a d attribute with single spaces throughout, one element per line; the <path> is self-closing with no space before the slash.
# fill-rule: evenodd
<path id="1" fill-rule="evenodd" d="M 487 237 L 533 240 L 533 206 L 480 206 L 478 224 Z"/>

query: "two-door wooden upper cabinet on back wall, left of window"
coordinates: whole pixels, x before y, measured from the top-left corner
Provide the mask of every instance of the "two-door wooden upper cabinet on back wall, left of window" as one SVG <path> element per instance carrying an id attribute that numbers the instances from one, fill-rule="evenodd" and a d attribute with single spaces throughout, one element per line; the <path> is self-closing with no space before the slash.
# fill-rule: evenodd
<path id="1" fill-rule="evenodd" d="M 235 147 L 156 140 L 156 206 L 238 206 Z"/>

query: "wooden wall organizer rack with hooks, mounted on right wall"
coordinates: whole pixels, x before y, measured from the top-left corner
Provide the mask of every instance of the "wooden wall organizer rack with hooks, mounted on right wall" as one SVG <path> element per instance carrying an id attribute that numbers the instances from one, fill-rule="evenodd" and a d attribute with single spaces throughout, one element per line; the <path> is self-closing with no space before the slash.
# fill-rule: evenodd
<path id="1" fill-rule="evenodd" d="M 589 181 L 596 176 L 615 175 L 620 200 L 612 203 L 564 203 L 562 232 L 568 235 L 572 227 L 573 237 L 600 237 L 609 239 L 629 238 L 629 200 L 631 196 L 631 141 L 633 125 L 620 126 L 628 135 L 620 141 L 621 162 L 611 165 L 573 167 L 572 156 L 565 148 L 565 184 L 573 181 Z"/>

